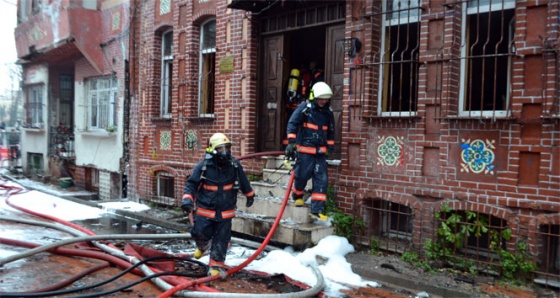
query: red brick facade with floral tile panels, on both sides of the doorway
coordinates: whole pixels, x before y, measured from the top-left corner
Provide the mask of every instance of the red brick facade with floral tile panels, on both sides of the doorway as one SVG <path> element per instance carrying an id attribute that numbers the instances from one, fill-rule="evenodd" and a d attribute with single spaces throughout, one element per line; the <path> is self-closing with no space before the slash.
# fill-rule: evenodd
<path id="1" fill-rule="evenodd" d="M 459 58 L 463 8 L 444 2 L 450 1 L 422 1 L 417 107 L 404 117 L 380 112 L 383 87 L 376 53 L 382 47 L 381 1 L 346 2 L 345 37 L 357 37 L 362 48 L 354 58 L 345 58 L 341 165 L 330 169 L 337 206 L 360 218 L 368 217 L 363 205 L 370 200 L 408 206 L 414 214 L 412 241 L 421 246 L 432 233 L 422 227 L 447 203 L 454 210 L 507 221 L 514 238 L 526 239 L 536 254 L 535 229 L 559 224 L 560 4 L 516 1 L 509 114 L 487 117 L 458 113 L 464 91 Z M 257 138 L 267 133 L 259 131 L 257 110 L 263 100 L 263 20 L 228 9 L 226 1 L 175 0 L 163 16 L 158 15 L 159 1 L 140 3 L 131 58 L 136 60 L 137 81 L 131 192 L 150 200 L 157 182 L 154 173 L 166 171 L 174 178 L 177 204 L 184 180 L 212 133 L 226 133 L 236 156 L 255 152 Z M 216 102 L 214 118 L 208 119 L 198 117 L 197 76 L 199 26 L 211 17 L 216 18 Z M 170 119 L 161 119 L 158 36 L 168 28 L 173 29 L 173 112 Z M 229 56 L 233 72 L 220 73 L 220 61 Z M 161 136 L 167 132 L 171 146 L 162 147 Z M 187 144 L 189 135 L 196 136 L 196 146 Z M 397 160 L 380 155 L 380 147 L 387 144 L 401 148 Z M 465 148 L 473 146 L 494 157 L 484 171 L 474 171 L 462 159 Z"/>

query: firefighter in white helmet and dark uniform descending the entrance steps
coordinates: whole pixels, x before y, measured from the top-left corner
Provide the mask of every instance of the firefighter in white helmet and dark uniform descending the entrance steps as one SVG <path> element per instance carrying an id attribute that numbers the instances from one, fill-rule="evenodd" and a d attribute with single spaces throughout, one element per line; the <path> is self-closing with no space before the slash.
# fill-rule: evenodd
<path id="1" fill-rule="evenodd" d="M 288 121 L 286 157 L 297 155 L 292 198 L 304 206 L 303 193 L 312 178 L 310 216 L 328 220 L 324 214 L 327 200 L 327 156 L 334 149 L 334 116 L 329 100 L 332 90 L 324 82 L 313 85 L 309 100 L 298 105 Z"/>

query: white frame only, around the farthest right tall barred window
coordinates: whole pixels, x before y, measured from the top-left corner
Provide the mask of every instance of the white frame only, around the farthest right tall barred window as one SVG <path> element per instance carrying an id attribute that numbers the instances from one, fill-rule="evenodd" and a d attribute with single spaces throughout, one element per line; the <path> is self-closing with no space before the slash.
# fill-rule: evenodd
<path id="1" fill-rule="evenodd" d="M 512 20 L 507 24 L 509 27 L 510 34 L 508 36 L 507 47 L 509 48 L 514 36 L 515 31 L 515 0 L 503 0 L 499 3 L 493 3 L 490 5 L 491 2 L 489 0 L 469 0 L 463 2 L 462 6 L 462 23 L 461 23 L 461 65 L 460 65 L 460 79 L 459 79 L 459 86 L 463 86 L 459 90 L 459 105 L 458 105 L 458 113 L 459 117 L 498 117 L 504 118 L 511 116 L 511 110 L 508 108 L 511 102 L 511 79 L 512 79 L 512 67 L 513 61 L 510 55 L 508 55 L 508 62 L 507 62 L 507 73 L 505 76 L 507 77 L 506 81 L 506 98 L 503 102 L 504 109 L 488 109 L 484 110 L 481 107 L 478 110 L 468 109 L 466 105 L 469 103 L 469 99 L 467 98 L 467 88 L 469 88 L 468 80 L 471 77 L 468 71 L 468 63 L 470 61 L 469 57 L 467 57 L 467 51 L 470 48 L 470 43 L 467 37 L 467 31 L 469 31 L 468 27 L 468 18 L 471 15 L 475 14 L 487 14 L 492 13 L 495 11 L 506 11 L 506 10 L 514 10 Z M 475 2 L 478 5 L 473 5 Z M 482 3 L 481 3 L 482 2 Z M 488 2 L 488 3 L 486 3 Z M 493 31 L 494 32 L 494 31 Z M 510 50 L 508 50 L 509 53 Z M 483 54 L 486 56 L 486 54 Z M 484 92 L 484 91 L 482 91 Z M 482 100 L 481 100 L 482 101 Z M 482 103 L 482 102 L 481 102 Z M 471 104 L 472 106 L 472 104 Z"/>

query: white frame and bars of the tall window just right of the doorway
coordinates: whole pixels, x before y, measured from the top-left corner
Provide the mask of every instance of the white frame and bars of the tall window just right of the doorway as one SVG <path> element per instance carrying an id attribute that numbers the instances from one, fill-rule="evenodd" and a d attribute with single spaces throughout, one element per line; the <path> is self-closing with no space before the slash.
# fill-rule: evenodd
<path id="1" fill-rule="evenodd" d="M 418 76 L 419 76 L 419 65 L 417 64 L 419 58 L 419 47 L 420 47 L 420 16 L 421 16 L 421 0 L 416 0 L 417 3 L 413 3 L 413 5 L 407 6 L 403 9 L 398 10 L 396 13 L 398 14 L 397 17 L 393 17 L 393 10 L 389 10 L 389 3 L 395 5 L 396 2 L 392 0 L 385 0 L 382 2 L 382 21 L 381 21 L 381 48 L 380 48 L 380 69 L 379 69 L 379 90 L 378 90 L 378 114 L 381 116 L 399 116 L 399 117 L 412 117 L 416 116 L 418 113 Z M 403 2 L 405 3 L 405 2 Z M 414 13 L 417 12 L 417 13 Z M 409 98 L 406 100 L 406 105 L 409 106 L 408 110 L 400 109 L 400 110 L 391 110 L 392 109 L 392 74 L 390 71 L 386 69 L 386 67 L 391 67 L 392 65 L 397 64 L 404 64 L 398 63 L 403 62 L 403 53 L 400 53 L 401 59 L 396 60 L 391 58 L 391 54 L 389 53 L 391 47 L 391 41 L 389 40 L 389 36 L 387 34 L 387 30 L 390 30 L 390 27 L 397 28 L 400 30 L 399 26 L 410 26 L 411 24 L 416 24 L 416 45 L 411 48 L 409 51 L 414 55 L 416 53 L 416 62 L 410 61 L 407 63 L 406 67 L 412 69 L 416 67 L 415 74 L 412 75 L 412 80 L 408 80 L 411 84 L 408 87 L 409 90 Z M 398 49 L 401 51 L 400 49 Z M 387 53 L 386 53 L 387 51 Z M 411 58 L 412 59 L 412 58 Z M 397 63 L 395 63 L 395 61 Z M 402 68 L 401 68 L 401 75 L 402 75 Z M 401 80 L 404 84 L 407 80 Z M 402 88 L 398 88 L 402 89 Z M 399 104 L 404 102 L 402 98 L 402 93 L 399 95 L 401 98 L 399 100 Z"/>

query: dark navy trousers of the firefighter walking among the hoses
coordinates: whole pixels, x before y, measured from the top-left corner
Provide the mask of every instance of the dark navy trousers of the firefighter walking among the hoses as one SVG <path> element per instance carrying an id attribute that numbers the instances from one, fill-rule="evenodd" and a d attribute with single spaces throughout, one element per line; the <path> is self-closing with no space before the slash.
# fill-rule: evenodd
<path id="1" fill-rule="evenodd" d="M 222 263 L 226 260 L 228 243 L 231 240 L 231 218 L 215 220 L 195 215 L 191 235 L 196 247 L 202 251 L 210 247 L 210 263 Z"/>

